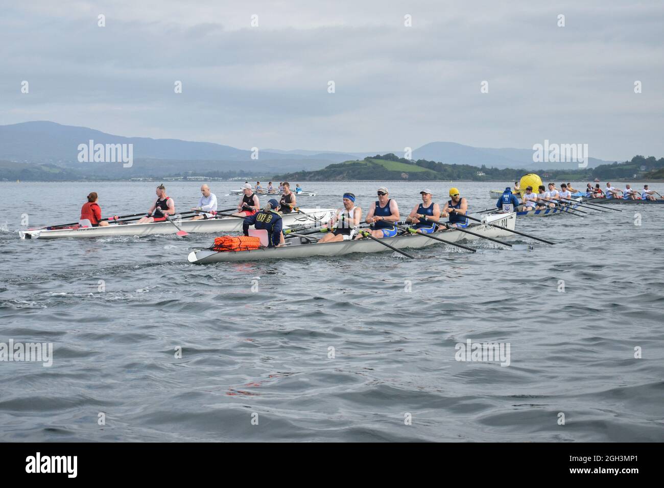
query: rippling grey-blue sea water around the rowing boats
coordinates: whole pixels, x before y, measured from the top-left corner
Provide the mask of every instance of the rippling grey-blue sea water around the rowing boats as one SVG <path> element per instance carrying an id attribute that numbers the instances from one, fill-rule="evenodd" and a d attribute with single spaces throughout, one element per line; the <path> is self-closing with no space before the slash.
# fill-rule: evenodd
<path id="1" fill-rule="evenodd" d="M 454 186 L 482 210 L 507 184 Z M 299 203 L 353 191 L 366 211 L 378 186 L 307 183 Z M 387 186 L 404 211 L 452 185 Z M 140 212 L 154 187 L 0 183 L 0 343 L 53 345 L 50 367 L 0 362 L 1 441 L 664 440 L 663 206 L 521 218 L 556 244 L 416 260 L 193 266 L 213 235 L 19 240 L 23 214 L 73 222 L 90 191 Z M 168 193 L 188 208 L 198 188 Z M 456 361 L 468 340 L 509 344 L 509 366 Z"/>

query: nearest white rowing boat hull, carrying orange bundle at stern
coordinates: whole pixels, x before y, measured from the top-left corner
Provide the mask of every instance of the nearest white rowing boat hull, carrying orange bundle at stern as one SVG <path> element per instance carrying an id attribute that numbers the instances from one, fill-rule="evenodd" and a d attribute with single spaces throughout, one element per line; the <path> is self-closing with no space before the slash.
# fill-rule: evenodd
<path id="1" fill-rule="evenodd" d="M 478 215 L 479 217 L 479 215 Z M 516 214 L 489 214 L 484 217 L 484 222 L 491 222 L 509 229 L 514 229 L 517 220 Z M 471 224 L 468 230 L 486 237 L 512 236 L 511 232 L 502 230 L 494 226 L 485 224 Z M 476 240 L 477 236 L 465 234 L 456 229 L 447 229 L 431 234 L 438 236 L 450 242 L 461 240 Z M 420 234 L 407 234 L 404 236 L 388 237 L 380 239 L 390 246 L 397 249 L 424 248 L 434 244 L 440 244 L 440 241 L 430 239 Z M 216 252 L 212 250 L 197 250 L 189 254 L 188 260 L 194 264 L 210 264 L 226 261 L 256 261 L 271 259 L 293 259 L 310 258 L 312 256 L 345 256 L 354 252 L 373 253 L 389 250 L 380 242 L 374 240 L 344 240 L 341 242 L 324 242 L 323 244 L 307 244 L 307 239 L 299 238 L 298 243 L 288 243 L 280 248 L 261 248 L 250 251 L 228 251 Z"/>

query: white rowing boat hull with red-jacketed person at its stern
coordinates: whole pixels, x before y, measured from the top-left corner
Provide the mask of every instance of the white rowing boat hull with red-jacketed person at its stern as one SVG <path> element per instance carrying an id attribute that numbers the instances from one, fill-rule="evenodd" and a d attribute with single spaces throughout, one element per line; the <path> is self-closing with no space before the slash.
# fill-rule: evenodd
<path id="1" fill-rule="evenodd" d="M 334 212 L 335 208 L 300 208 L 301 213 L 284 214 L 284 226 L 293 226 L 305 222 L 315 222 L 321 220 L 327 222 Z M 203 232 L 240 232 L 242 230 L 242 218 L 219 217 L 199 220 L 177 220 L 177 225 L 190 234 Z M 108 236 L 146 236 L 149 234 L 173 234 L 177 228 L 171 222 L 151 222 L 148 224 L 110 224 L 104 227 L 81 227 L 71 226 L 68 228 L 56 228 L 48 230 L 28 229 L 19 231 L 21 239 L 55 239 L 64 237 L 108 237 Z"/>

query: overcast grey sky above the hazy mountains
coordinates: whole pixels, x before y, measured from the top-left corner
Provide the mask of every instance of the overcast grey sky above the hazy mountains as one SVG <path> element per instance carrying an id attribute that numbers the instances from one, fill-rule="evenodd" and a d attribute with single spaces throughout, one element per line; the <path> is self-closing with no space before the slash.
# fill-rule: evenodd
<path id="1" fill-rule="evenodd" d="M 600 159 L 664 156 L 661 0 L 0 0 L 0 10 L 0 124 L 242 149 L 549 139 L 588 143 Z"/>

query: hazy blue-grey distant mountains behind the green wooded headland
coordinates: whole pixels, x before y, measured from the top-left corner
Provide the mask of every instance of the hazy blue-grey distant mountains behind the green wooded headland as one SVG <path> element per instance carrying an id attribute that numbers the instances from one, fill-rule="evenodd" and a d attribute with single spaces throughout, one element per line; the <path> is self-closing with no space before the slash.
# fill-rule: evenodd
<path id="1" fill-rule="evenodd" d="M 133 145 L 133 163 L 123 167 L 122 163 L 78 161 L 80 144 Z M 16 172 L 29 170 L 35 177 L 39 171 L 54 175 L 62 168 L 66 177 L 78 175 L 82 179 L 110 178 L 127 179 L 131 177 L 167 177 L 175 175 L 216 173 L 242 173 L 269 177 L 276 173 L 293 171 L 315 171 L 331 163 L 363 159 L 376 154 L 403 151 L 310 151 L 293 149 L 260 149 L 258 159 L 252 158 L 252 151 L 236 147 L 180 139 L 151 139 L 149 137 L 124 137 L 112 135 L 73 125 L 61 125 L 55 122 L 37 121 L 12 125 L 0 125 L 0 179 L 13 179 Z M 412 151 L 412 159 L 427 159 L 446 164 L 473 165 L 481 167 L 562 169 L 576 167 L 574 163 L 533 163 L 532 149 L 493 149 L 471 147 L 453 142 L 432 142 Z M 601 161 L 590 158 L 588 167 L 613 161 Z M 9 163 L 22 163 L 18 167 Z M 41 170 L 35 168 L 41 167 Z M 11 174 L 7 171 L 12 168 Z M 48 167 L 48 171 L 44 168 Z M 18 168 L 18 169 L 17 169 Z M 6 174 L 5 174 L 6 173 Z M 26 174 L 27 174 L 26 173 Z M 64 177 L 64 176 L 63 176 Z"/>

